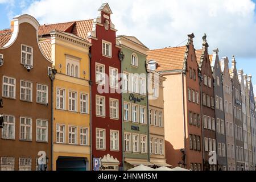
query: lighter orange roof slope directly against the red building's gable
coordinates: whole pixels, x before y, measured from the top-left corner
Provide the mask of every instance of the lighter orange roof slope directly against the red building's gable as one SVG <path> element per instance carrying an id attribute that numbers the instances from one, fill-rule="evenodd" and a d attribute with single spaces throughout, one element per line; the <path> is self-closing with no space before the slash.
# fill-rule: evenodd
<path id="1" fill-rule="evenodd" d="M 87 40 L 88 32 L 92 31 L 93 19 L 77 21 L 73 28 L 72 34 Z"/>

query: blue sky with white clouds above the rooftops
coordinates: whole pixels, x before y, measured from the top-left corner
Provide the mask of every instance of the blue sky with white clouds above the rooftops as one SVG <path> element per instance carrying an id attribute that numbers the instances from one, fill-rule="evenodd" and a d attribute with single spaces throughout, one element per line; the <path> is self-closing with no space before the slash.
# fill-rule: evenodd
<path id="1" fill-rule="evenodd" d="M 0 0 L 0 29 L 15 15 L 30 14 L 40 24 L 97 17 L 108 2 L 118 35 L 136 36 L 150 49 L 184 46 L 195 34 L 195 48 L 207 34 L 209 53 L 236 56 L 237 68 L 253 75 L 256 93 L 256 0 Z"/>

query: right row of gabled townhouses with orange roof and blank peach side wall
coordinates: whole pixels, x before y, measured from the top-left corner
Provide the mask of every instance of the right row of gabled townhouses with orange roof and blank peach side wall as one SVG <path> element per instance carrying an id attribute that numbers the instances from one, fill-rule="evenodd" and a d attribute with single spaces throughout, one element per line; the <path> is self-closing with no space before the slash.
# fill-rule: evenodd
<path id="1" fill-rule="evenodd" d="M 150 50 L 147 61 L 164 77 L 167 163 L 193 171 L 255 170 L 255 100 L 251 75 L 236 59 L 193 46 Z M 211 156 L 216 154 L 216 162 Z M 214 158 L 213 158 L 214 159 Z"/>

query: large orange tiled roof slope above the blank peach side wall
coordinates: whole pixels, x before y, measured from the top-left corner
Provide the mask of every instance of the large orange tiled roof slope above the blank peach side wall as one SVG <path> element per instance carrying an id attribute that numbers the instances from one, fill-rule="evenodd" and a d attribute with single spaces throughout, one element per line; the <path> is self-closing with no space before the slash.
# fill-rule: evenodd
<path id="1" fill-rule="evenodd" d="M 159 64 L 156 71 L 183 69 L 186 47 L 170 47 L 147 52 L 147 61 L 155 60 Z"/>

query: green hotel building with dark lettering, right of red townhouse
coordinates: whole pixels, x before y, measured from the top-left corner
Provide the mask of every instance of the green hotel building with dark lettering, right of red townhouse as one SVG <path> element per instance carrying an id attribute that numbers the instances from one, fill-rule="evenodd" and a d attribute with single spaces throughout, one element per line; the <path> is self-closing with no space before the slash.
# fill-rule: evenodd
<path id="1" fill-rule="evenodd" d="M 146 52 L 134 36 L 118 36 L 122 47 L 123 168 L 150 166 Z"/>

